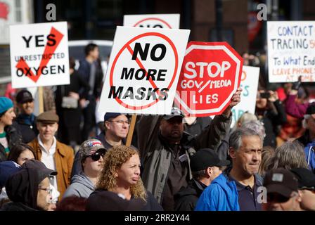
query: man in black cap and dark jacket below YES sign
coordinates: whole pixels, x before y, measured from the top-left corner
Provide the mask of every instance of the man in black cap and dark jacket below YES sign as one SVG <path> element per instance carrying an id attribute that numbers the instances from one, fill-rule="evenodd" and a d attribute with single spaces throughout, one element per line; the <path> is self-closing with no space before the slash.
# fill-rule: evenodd
<path id="1" fill-rule="evenodd" d="M 18 103 L 20 114 L 15 118 L 16 123 L 13 123 L 13 126 L 20 131 L 23 143 L 29 143 L 38 134 L 35 124 L 36 116 L 33 114 L 34 99 L 30 91 L 27 90 L 19 91 L 15 99 Z"/>

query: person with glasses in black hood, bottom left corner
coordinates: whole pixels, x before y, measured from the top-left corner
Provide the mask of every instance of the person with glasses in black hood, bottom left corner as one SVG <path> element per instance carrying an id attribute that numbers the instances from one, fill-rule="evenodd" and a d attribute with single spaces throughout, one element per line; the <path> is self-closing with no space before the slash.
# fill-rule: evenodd
<path id="1" fill-rule="evenodd" d="M 6 181 L 6 193 L 11 200 L 1 207 L 1 211 L 49 211 L 53 210 L 52 189 L 49 176 L 57 172 L 48 169 L 37 160 L 27 160 L 27 164 L 39 163 L 33 167 L 22 167 Z"/>

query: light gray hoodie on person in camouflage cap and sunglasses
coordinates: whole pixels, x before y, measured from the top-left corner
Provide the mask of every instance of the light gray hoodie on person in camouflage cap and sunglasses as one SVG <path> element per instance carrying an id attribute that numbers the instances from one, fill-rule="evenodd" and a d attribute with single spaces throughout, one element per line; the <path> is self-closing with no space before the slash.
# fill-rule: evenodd
<path id="1" fill-rule="evenodd" d="M 94 191 L 94 188 L 92 181 L 84 174 L 84 172 L 80 172 L 72 177 L 71 185 L 63 194 L 63 198 L 71 195 L 89 198 L 89 195 Z"/>

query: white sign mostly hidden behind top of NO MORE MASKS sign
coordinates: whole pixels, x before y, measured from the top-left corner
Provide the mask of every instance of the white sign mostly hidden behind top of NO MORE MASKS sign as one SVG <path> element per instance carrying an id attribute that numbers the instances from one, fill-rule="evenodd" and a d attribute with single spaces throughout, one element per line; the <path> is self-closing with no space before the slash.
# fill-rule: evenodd
<path id="1" fill-rule="evenodd" d="M 179 17 L 179 14 L 124 15 L 124 26 L 179 29 Z"/>

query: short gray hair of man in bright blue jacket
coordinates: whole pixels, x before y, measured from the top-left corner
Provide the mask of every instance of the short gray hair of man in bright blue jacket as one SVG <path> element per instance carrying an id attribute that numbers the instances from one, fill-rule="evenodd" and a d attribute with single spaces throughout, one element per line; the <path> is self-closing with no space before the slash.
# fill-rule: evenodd
<path id="1" fill-rule="evenodd" d="M 255 130 L 249 129 L 247 127 L 240 127 L 232 132 L 229 138 L 229 145 L 230 148 L 234 150 L 238 150 L 240 146 L 242 146 L 242 137 L 243 136 L 258 136 L 259 139 L 262 141 L 262 136 L 257 134 Z"/>

